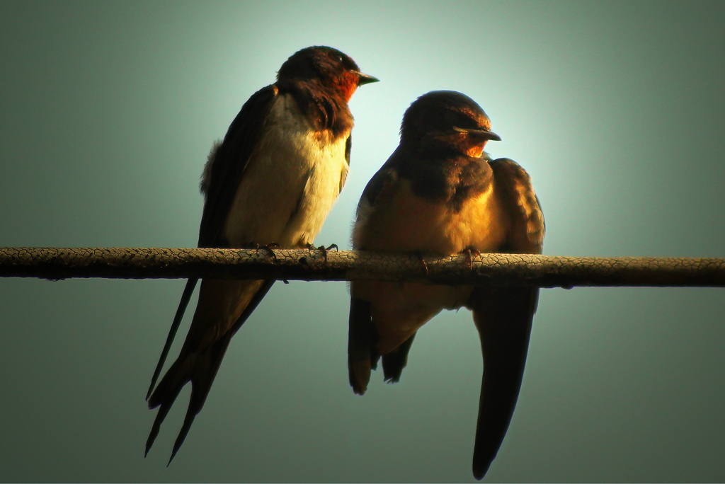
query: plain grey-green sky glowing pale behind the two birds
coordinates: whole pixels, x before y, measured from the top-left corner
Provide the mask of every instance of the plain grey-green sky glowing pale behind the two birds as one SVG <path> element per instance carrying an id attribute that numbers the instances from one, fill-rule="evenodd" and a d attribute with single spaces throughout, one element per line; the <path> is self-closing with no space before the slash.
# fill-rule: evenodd
<path id="1" fill-rule="evenodd" d="M 433 89 L 486 109 L 529 171 L 544 254 L 725 256 L 725 4 L 0 3 L 0 245 L 189 247 L 212 141 L 305 46 L 381 83 L 318 243 Z M 470 314 L 401 383 L 347 383 L 343 283 L 278 284 L 236 336 L 173 464 L 144 396 L 182 280 L 0 280 L 0 480 L 469 481 Z M 725 290 L 542 291 L 489 481 L 725 480 Z M 180 334 L 185 334 L 182 328 Z M 178 351 L 178 338 L 173 354 Z"/>

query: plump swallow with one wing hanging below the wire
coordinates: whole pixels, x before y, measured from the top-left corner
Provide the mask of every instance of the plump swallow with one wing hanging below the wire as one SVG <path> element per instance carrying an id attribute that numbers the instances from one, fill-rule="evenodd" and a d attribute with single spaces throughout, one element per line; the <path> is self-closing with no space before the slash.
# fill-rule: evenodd
<path id="1" fill-rule="evenodd" d="M 541 254 L 544 216 L 531 178 L 513 160 L 484 151 L 500 140 L 465 94 L 420 96 L 403 116 L 399 146 L 363 191 L 353 248 L 418 257 Z M 421 326 L 442 309 L 471 309 L 484 359 L 473 450 L 480 480 L 513 415 L 538 295 L 534 287 L 352 281 L 350 385 L 363 395 L 380 360 L 384 379 L 397 382 Z"/>

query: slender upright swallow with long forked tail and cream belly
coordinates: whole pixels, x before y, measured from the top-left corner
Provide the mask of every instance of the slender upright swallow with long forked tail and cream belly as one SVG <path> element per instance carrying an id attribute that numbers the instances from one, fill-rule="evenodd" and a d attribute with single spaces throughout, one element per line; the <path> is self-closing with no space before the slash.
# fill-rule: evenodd
<path id="1" fill-rule="evenodd" d="M 353 125 L 347 103 L 360 85 L 376 81 L 331 47 L 289 57 L 276 83 L 254 93 L 223 141 L 212 146 L 202 174 L 199 247 L 309 247 L 347 177 Z M 202 279 L 181 353 L 155 386 L 196 283 L 186 283 L 146 394 L 149 409 L 159 407 L 148 454 L 178 393 L 191 382 L 169 463 L 204 405 L 231 338 L 274 281 Z"/>

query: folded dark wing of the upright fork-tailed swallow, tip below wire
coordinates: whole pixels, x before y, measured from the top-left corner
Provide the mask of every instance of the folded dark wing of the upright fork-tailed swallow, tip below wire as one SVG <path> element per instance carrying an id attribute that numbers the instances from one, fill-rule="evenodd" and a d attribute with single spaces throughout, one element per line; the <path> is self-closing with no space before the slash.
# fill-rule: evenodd
<path id="1" fill-rule="evenodd" d="M 244 168 L 247 167 L 249 157 L 252 156 L 265 118 L 277 93 L 275 85 L 268 85 L 254 93 L 244 103 L 241 111 L 229 126 L 224 141 L 213 151 L 210 172 L 205 175 L 206 201 L 202 214 L 202 225 L 199 228 L 199 247 L 228 247 L 229 244 L 223 236 L 226 217 L 234 200 L 236 188 L 239 187 L 244 175 Z M 186 283 L 174 320 L 169 328 L 164 349 L 161 351 L 159 362 L 154 370 L 149 391 L 146 393 L 146 400 L 154 391 L 154 386 L 164 367 L 166 356 L 197 282 L 198 279 L 191 278 Z"/>

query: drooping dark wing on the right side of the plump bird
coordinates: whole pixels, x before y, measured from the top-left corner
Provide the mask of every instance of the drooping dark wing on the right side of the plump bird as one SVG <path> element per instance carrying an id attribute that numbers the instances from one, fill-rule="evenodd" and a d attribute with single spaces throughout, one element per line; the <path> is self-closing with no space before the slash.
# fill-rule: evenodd
<path id="1" fill-rule="evenodd" d="M 526 171 L 510 159 L 490 162 L 494 194 L 508 215 L 510 230 L 503 252 L 541 254 L 544 216 Z M 531 322 L 539 288 L 476 286 L 468 300 L 481 336 L 481 381 L 473 475 L 481 479 L 496 456 L 521 388 Z"/>

